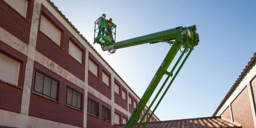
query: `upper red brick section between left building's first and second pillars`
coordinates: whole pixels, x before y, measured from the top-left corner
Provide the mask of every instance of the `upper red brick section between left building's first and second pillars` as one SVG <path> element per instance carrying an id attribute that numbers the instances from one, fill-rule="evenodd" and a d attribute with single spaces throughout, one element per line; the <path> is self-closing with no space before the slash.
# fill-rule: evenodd
<path id="1" fill-rule="evenodd" d="M 85 47 L 43 5 L 41 6 L 41 13 L 62 31 L 61 46 L 55 44 L 40 31 L 40 18 L 36 50 L 84 81 Z M 82 50 L 81 64 L 68 54 L 69 40 L 72 40 Z"/>

